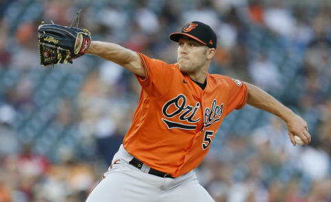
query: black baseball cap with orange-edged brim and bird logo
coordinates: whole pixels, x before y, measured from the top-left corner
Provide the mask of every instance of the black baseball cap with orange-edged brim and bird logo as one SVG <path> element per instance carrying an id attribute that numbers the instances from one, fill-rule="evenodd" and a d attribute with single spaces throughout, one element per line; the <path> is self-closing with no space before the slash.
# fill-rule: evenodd
<path id="1" fill-rule="evenodd" d="M 169 35 L 172 41 L 178 42 L 183 36 L 190 37 L 196 41 L 199 41 L 209 48 L 215 48 L 217 46 L 217 37 L 215 32 L 210 28 L 210 26 L 199 21 L 192 21 L 186 24 L 181 32 L 174 32 Z"/>

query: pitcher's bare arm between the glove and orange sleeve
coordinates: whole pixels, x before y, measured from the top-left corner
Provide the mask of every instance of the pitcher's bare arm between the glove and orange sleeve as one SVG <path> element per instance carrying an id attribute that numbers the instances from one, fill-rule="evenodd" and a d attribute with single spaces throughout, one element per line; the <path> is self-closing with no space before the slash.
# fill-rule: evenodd
<path id="1" fill-rule="evenodd" d="M 116 43 L 91 41 L 90 47 L 86 53 L 94 54 L 103 59 L 117 63 L 130 72 L 145 77 L 145 68 L 143 68 L 139 55 Z"/>

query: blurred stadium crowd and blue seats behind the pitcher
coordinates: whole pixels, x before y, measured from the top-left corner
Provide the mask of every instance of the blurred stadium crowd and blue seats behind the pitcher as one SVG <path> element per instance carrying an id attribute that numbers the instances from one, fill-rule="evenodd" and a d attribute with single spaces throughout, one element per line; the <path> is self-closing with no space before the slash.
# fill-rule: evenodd
<path id="1" fill-rule="evenodd" d="M 130 125 L 140 86 L 97 57 L 39 65 L 41 21 L 80 28 L 173 63 L 185 23 L 218 35 L 210 72 L 254 83 L 306 121 L 292 147 L 278 118 L 230 114 L 197 168 L 215 201 L 331 201 L 331 1 L 0 1 L 0 201 L 84 201 Z"/>

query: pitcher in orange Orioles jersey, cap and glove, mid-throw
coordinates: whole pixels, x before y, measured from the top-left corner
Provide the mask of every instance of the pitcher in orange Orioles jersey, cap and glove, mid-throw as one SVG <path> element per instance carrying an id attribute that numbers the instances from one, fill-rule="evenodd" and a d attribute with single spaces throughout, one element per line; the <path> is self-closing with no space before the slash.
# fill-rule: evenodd
<path id="1" fill-rule="evenodd" d="M 65 31 L 71 34 L 54 34 Z M 57 45 L 68 37 L 70 45 Z M 208 73 L 217 49 L 210 26 L 192 21 L 170 39 L 178 43 L 178 62 L 173 64 L 114 43 L 92 41 L 87 30 L 39 26 L 41 64 L 94 54 L 130 70 L 142 87 L 123 144 L 87 202 L 213 201 L 193 170 L 210 150 L 223 119 L 246 103 L 283 119 L 293 145 L 294 135 L 305 145 L 310 143 L 307 123 L 270 94 L 250 83 Z"/>

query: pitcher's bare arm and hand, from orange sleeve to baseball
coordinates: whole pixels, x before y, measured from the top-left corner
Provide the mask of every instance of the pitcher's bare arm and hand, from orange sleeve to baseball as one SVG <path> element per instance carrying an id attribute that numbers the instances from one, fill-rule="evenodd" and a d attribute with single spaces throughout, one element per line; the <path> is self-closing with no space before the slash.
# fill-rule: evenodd
<path id="1" fill-rule="evenodd" d="M 308 145 L 311 141 L 310 134 L 308 132 L 307 122 L 292 112 L 289 108 L 285 107 L 282 103 L 274 99 L 268 92 L 261 90 L 255 85 L 246 83 L 248 90 L 247 103 L 255 108 L 270 112 L 277 117 L 280 117 L 285 121 L 288 127 L 288 135 L 293 145 L 295 145 L 294 135 L 299 136 L 305 145 Z"/>

